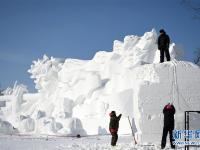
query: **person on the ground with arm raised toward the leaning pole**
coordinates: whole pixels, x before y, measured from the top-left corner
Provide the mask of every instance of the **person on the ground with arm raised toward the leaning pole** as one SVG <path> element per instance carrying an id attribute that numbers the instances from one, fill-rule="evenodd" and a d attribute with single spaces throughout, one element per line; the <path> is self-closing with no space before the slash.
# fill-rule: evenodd
<path id="1" fill-rule="evenodd" d="M 118 128 L 119 128 L 119 120 L 121 118 L 122 114 L 120 114 L 119 116 L 116 116 L 115 111 L 112 111 L 110 113 L 110 124 L 109 124 L 109 130 L 110 133 L 112 135 L 112 139 L 111 139 L 111 145 L 115 146 L 118 140 Z"/>

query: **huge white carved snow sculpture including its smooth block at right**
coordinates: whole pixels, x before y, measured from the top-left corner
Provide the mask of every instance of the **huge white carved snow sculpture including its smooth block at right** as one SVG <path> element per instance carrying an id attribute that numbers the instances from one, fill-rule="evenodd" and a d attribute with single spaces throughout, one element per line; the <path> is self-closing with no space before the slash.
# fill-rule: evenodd
<path id="1" fill-rule="evenodd" d="M 33 61 L 28 72 L 38 92 L 20 84 L 4 91 L 0 132 L 106 135 L 115 110 L 122 113 L 119 134 L 131 133 L 130 117 L 138 143 L 156 143 L 168 102 L 177 110 L 175 128 L 184 129 L 184 111 L 200 108 L 200 69 L 180 61 L 183 51 L 175 43 L 169 48 L 172 61 L 160 64 L 157 36 L 154 29 L 126 36 L 114 41 L 112 52 L 99 51 L 92 60 L 44 55 Z"/>

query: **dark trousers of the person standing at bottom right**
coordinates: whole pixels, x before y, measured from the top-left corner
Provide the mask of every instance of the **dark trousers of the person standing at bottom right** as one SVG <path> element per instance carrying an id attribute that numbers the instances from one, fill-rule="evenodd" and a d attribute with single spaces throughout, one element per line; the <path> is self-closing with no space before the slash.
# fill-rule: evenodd
<path id="1" fill-rule="evenodd" d="M 161 147 L 164 148 L 166 145 L 166 138 L 167 138 L 167 133 L 169 132 L 169 139 L 170 139 L 170 144 L 171 148 L 175 148 L 175 145 L 173 145 L 173 136 L 172 136 L 172 128 L 164 127 L 163 128 L 163 135 L 162 135 L 162 141 L 161 141 Z"/>

